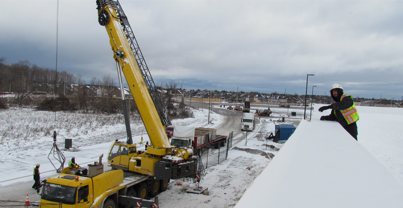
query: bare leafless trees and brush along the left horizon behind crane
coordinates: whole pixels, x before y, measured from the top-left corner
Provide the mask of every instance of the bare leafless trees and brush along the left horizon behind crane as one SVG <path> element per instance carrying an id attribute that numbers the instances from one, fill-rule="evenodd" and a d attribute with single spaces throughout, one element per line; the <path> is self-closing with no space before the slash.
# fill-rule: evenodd
<path id="1" fill-rule="evenodd" d="M 87 83 L 80 74 L 38 67 L 29 61 L 6 64 L 0 58 L 0 93 L 14 93 L 15 96 L 0 99 L 0 108 L 9 105 L 34 106 L 38 110 L 78 110 L 85 113 L 122 113 L 122 100 L 116 98 L 117 81 L 110 75 L 102 79 L 92 77 Z M 175 104 L 172 91 L 178 84 L 170 82 L 162 85 L 166 91 L 161 95 L 170 116 L 192 116 L 183 101 Z M 46 94 L 46 95 L 41 95 Z M 128 111 L 136 112 L 137 107 L 131 96 L 126 97 Z"/>

